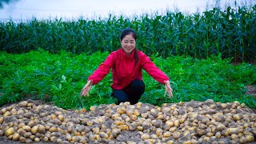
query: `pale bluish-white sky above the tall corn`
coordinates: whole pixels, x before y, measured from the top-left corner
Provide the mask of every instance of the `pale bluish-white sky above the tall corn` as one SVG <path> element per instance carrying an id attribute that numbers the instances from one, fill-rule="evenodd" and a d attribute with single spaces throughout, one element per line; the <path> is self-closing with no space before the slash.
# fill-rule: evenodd
<path id="1" fill-rule="evenodd" d="M 132 17 L 145 13 L 155 14 L 156 11 L 164 14 L 166 10 L 175 9 L 191 14 L 206 10 L 207 5 L 214 5 L 213 2 L 214 0 L 19 0 L 3 5 L 0 20 L 107 18 L 109 14 Z"/>

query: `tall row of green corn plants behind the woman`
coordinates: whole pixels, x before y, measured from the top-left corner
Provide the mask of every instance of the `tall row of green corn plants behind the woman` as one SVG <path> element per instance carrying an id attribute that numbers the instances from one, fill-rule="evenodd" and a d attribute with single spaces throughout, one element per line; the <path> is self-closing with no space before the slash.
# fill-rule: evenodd
<path id="1" fill-rule="evenodd" d="M 30 22 L 0 22 L 0 50 L 25 53 L 42 48 L 51 53 L 60 50 L 73 54 L 93 54 L 113 51 L 120 47 L 119 34 L 131 27 L 138 32 L 137 46 L 148 55 L 162 58 L 185 55 L 209 58 L 222 54 L 222 58 L 251 61 L 256 55 L 256 6 L 250 10 L 214 8 L 202 14 L 182 14 L 167 11 L 134 18 L 109 16 L 106 19 L 62 19 Z"/>

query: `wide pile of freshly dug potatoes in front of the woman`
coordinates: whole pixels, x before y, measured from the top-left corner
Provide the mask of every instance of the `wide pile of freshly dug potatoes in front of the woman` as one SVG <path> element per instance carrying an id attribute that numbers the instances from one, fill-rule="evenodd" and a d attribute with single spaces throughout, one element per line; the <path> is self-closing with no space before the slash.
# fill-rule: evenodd
<path id="1" fill-rule="evenodd" d="M 57 143 L 250 143 L 256 113 L 239 102 L 138 102 L 91 106 L 89 111 L 37 105 L 32 100 L 0 110 L 0 137 Z"/>

